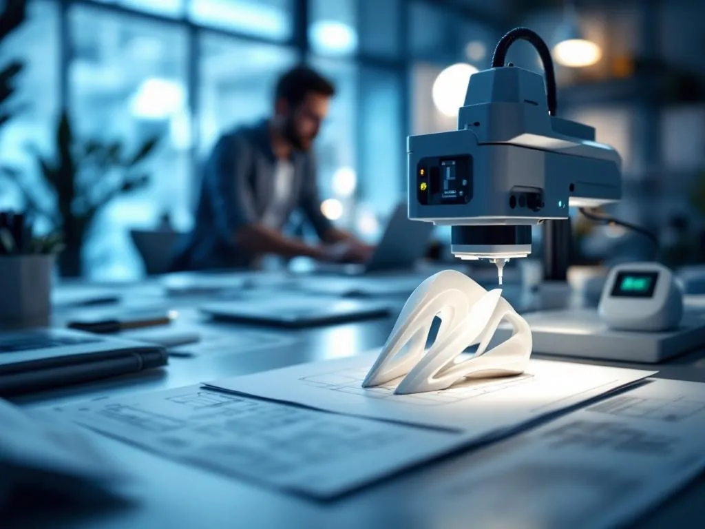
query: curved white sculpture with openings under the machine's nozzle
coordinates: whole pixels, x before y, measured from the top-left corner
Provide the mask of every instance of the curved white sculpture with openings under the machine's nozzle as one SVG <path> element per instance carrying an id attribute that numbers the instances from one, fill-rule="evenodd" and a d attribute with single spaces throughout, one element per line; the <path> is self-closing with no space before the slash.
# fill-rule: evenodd
<path id="1" fill-rule="evenodd" d="M 463 378 L 522 374 L 531 356 L 531 329 L 501 292 L 488 292 L 454 270 L 426 279 L 405 303 L 362 387 L 379 386 L 406 375 L 394 392 L 411 394 L 446 389 Z M 435 316 L 441 318 L 441 327 L 424 354 Z M 486 351 L 502 320 L 512 325 L 513 335 Z M 460 353 L 476 344 L 472 358 L 455 362 Z"/>

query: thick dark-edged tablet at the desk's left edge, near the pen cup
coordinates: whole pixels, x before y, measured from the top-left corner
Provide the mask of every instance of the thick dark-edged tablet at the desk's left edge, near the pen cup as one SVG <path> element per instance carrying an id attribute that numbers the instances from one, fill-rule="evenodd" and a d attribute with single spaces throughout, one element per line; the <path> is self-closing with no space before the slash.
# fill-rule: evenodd
<path id="1" fill-rule="evenodd" d="M 0 334 L 0 396 L 28 393 L 166 364 L 166 350 L 71 329 Z"/>

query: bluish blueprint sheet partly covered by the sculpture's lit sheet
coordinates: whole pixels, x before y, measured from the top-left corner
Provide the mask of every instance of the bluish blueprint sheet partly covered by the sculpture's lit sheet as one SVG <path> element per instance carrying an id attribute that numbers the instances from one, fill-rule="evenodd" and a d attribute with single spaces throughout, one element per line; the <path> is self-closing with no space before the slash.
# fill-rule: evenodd
<path id="1" fill-rule="evenodd" d="M 219 473 L 330 498 L 446 452 L 457 434 L 324 413 L 199 386 L 52 408 Z"/>

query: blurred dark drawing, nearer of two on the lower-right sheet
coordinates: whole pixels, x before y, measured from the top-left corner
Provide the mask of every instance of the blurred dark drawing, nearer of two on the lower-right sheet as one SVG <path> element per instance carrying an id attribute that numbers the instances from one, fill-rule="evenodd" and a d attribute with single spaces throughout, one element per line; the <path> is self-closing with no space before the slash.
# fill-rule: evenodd
<path id="1" fill-rule="evenodd" d="M 581 446 L 589 449 L 611 449 L 615 452 L 668 456 L 678 444 L 678 437 L 652 434 L 617 422 L 575 420 L 546 432 L 553 439 L 551 446 Z"/>

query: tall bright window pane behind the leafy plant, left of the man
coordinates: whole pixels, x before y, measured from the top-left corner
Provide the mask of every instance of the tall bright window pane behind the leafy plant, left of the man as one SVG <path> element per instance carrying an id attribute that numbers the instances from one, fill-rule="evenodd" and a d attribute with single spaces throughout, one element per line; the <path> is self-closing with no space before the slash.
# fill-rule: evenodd
<path id="1" fill-rule="evenodd" d="M 140 270 L 130 229 L 154 226 L 162 214 L 178 228 L 190 227 L 185 29 L 83 5 L 71 8 L 69 23 L 69 102 L 76 134 L 82 140 L 121 142 L 125 153 L 160 135 L 145 164 L 149 185 L 110 202 L 92 226 L 99 236 L 91 236 L 85 247 L 92 277 L 128 278 Z M 106 171 L 106 180 L 110 177 Z"/>

